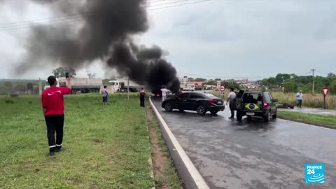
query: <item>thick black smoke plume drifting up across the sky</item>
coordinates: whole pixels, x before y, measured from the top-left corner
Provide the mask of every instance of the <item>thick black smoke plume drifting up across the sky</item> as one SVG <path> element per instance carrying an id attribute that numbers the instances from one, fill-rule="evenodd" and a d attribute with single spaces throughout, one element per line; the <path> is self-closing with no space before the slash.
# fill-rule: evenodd
<path id="1" fill-rule="evenodd" d="M 146 0 L 31 1 L 47 6 L 55 15 L 77 14 L 80 19 L 32 28 L 25 43 L 25 63 L 18 65 L 17 73 L 43 64 L 80 69 L 102 59 L 121 75 L 152 90 L 166 85 L 178 92 L 176 69 L 162 57 L 162 50 L 134 43 L 134 35 L 148 30 Z"/>

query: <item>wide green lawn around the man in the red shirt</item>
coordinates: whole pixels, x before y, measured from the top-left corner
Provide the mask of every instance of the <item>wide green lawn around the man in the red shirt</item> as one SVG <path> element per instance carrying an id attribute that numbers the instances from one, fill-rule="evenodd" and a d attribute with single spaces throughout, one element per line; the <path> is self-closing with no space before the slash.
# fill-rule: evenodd
<path id="1" fill-rule="evenodd" d="M 13 101 L 6 102 L 6 101 Z M 139 99 L 64 97 L 63 151 L 48 156 L 40 97 L 0 97 L 0 188 L 151 188 L 151 148 Z"/>

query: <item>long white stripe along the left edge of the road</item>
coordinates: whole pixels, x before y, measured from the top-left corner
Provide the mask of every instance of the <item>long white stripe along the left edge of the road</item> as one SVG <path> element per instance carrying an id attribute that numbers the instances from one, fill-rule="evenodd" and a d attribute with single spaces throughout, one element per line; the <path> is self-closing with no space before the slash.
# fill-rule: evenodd
<path id="1" fill-rule="evenodd" d="M 179 153 L 179 155 L 180 155 L 180 157 L 181 157 L 184 165 L 186 165 L 189 174 L 191 175 L 191 177 L 193 178 L 193 180 L 196 183 L 196 186 L 198 188 L 200 188 L 200 189 L 208 189 L 209 186 L 204 181 L 204 179 L 201 176 L 200 172 L 197 171 L 195 165 L 193 165 L 193 162 L 191 162 L 190 158 L 188 157 L 188 155 L 186 154 L 186 152 L 183 150 L 182 146 L 179 144 L 179 141 L 177 141 L 177 139 L 175 138 L 175 136 L 172 133 L 172 131 L 169 129 L 167 123 L 165 122 L 165 120 L 160 115 L 158 109 L 156 109 L 156 107 L 154 106 L 151 97 L 149 98 L 149 102 L 151 102 L 151 106 L 154 109 L 156 116 L 158 116 L 158 119 L 162 123 L 162 126 L 165 128 L 165 131 L 167 132 L 168 137 L 172 141 L 172 143 L 173 143 L 173 145 L 174 145 L 177 153 Z"/>

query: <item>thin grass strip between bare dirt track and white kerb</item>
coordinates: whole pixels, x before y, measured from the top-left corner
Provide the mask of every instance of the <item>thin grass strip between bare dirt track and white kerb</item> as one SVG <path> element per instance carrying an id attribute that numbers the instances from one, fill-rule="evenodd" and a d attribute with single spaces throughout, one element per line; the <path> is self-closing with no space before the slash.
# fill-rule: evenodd
<path id="1" fill-rule="evenodd" d="M 152 110 L 151 110 L 152 111 Z M 152 111 L 153 113 L 153 111 Z M 155 117 L 155 113 L 153 113 L 153 116 Z M 160 146 L 160 150 L 163 155 L 167 158 L 167 162 L 165 165 L 165 172 L 162 176 L 157 176 L 155 178 L 155 183 L 158 188 L 160 188 L 160 184 L 164 182 L 165 180 L 168 182 L 168 185 L 170 188 L 180 188 L 181 181 L 179 179 L 179 175 L 176 172 L 176 169 L 174 169 L 174 165 L 172 160 L 169 158 L 168 148 L 165 144 L 165 141 L 162 137 L 162 132 L 160 130 L 160 127 L 158 125 L 158 120 L 152 119 L 148 121 L 148 127 L 152 127 L 156 130 L 156 136 L 158 139 L 158 145 Z"/>

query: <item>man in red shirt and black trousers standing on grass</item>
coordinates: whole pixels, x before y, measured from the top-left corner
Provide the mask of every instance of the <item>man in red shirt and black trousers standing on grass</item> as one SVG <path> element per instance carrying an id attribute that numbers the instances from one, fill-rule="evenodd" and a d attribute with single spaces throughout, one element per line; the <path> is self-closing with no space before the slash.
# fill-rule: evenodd
<path id="1" fill-rule="evenodd" d="M 50 156 L 55 155 L 55 151 L 60 151 L 63 140 L 64 125 L 64 94 L 70 94 L 71 83 L 70 78 L 66 78 L 68 87 L 57 87 L 55 76 L 48 77 L 50 88 L 42 93 L 42 106 L 47 125 L 47 136 L 49 143 Z M 56 141 L 55 141 L 56 132 Z"/>

